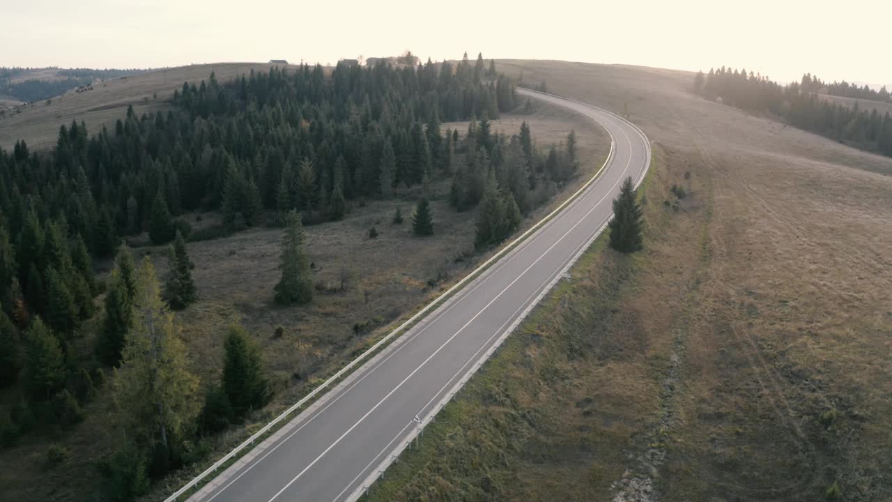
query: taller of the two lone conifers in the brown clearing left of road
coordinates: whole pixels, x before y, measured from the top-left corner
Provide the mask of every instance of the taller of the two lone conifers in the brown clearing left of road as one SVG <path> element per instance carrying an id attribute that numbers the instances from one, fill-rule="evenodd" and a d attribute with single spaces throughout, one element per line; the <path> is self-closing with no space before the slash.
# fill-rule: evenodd
<path id="1" fill-rule="evenodd" d="M 282 238 L 282 278 L 276 285 L 276 301 L 279 304 L 307 304 L 313 299 L 310 277 L 310 259 L 303 249 L 301 215 L 292 210 L 288 213 L 285 236 Z"/>

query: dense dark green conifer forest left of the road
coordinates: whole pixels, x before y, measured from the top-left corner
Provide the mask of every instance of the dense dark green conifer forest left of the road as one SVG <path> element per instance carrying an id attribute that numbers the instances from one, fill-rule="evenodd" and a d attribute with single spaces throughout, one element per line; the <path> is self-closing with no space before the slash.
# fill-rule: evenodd
<path id="1" fill-rule="evenodd" d="M 190 372 L 172 312 L 201 296 L 187 242 L 285 227 L 283 279 L 270 298 L 308 303 L 303 225 L 339 220 L 353 201 L 421 194 L 411 218 L 424 238 L 437 231 L 429 186 L 450 180 L 450 205 L 476 211 L 475 247 L 498 245 L 579 163 L 574 133 L 540 151 L 525 122 L 511 136 L 492 131 L 515 104 L 511 82 L 482 55 L 274 67 L 186 82 L 165 113 L 131 107 L 112 130 L 91 135 L 74 121 L 49 152 L 23 141 L 0 149 L 0 386 L 18 391 L 0 416 L 3 445 L 63 432 L 111 392 L 126 440 L 97 465 L 106 498 L 132 499 L 201 458 L 190 445 L 264 406 L 271 390 L 237 324 L 222 380 L 209 386 Z M 442 121 L 469 126 L 459 134 Z M 190 232 L 184 216 L 199 210 L 219 213 L 219 226 Z M 121 244 L 143 234 L 170 243 L 168 277 Z M 95 261 L 112 257 L 111 274 L 97 279 Z"/>

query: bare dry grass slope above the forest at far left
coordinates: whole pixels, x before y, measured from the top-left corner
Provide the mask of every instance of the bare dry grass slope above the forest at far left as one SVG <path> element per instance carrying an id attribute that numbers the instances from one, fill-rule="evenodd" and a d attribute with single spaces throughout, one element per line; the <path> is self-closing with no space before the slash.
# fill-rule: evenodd
<path id="1" fill-rule="evenodd" d="M 275 66 L 266 63 L 214 63 L 194 64 L 142 73 L 119 79 L 97 82 L 93 90 L 76 93 L 73 90 L 63 96 L 20 107 L 21 113 L 0 114 L 0 148 L 12 149 L 15 142 L 24 139 L 31 148 L 45 149 L 53 146 L 59 134 L 59 126 L 69 125 L 72 120 L 85 121 L 87 130 L 96 132 L 103 126 L 112 129 L 122 119 L 129 105 L 137 115 L 165 109 L 173 91 L 183 88 L 183 82 L 208 79 L 211 71 L 217 79 L 225 81 L 252 70 L 268 70 Z M 0 105 L 2 108 L 2 105 Z"/>

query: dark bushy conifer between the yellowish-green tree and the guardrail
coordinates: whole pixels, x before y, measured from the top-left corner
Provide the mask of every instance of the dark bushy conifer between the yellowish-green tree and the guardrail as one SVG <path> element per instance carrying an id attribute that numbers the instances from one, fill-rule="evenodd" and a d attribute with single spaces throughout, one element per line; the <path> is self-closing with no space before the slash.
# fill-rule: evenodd
<path id="1" fill-rule="evenodd" d="M 236 416 L 266 405 L 272 390 L 264 376 L 260 347 L 240 324 L 229 326 L 224 343 L 222 387 Z"/>

